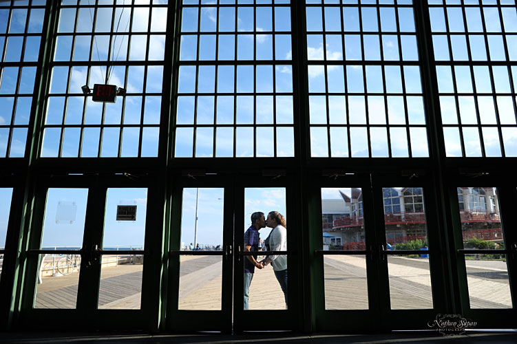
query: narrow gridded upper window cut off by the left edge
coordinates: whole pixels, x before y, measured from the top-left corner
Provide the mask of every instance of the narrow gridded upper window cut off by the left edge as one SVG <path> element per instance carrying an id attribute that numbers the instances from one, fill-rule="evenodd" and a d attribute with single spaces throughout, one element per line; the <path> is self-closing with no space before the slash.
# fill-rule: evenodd
<path id="1" fill-rule="evenodd" d="M 45 1 L 0 1 L 0 158 L 23 158 Z"/>

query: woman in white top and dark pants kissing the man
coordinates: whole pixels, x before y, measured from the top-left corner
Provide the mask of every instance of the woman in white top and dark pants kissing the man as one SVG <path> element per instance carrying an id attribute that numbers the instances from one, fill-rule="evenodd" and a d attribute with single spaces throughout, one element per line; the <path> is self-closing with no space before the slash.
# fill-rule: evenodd
<path id="1" fill-rule="evenodd" d="M 268 214 L 267 226 L 274 228 L 269 235 L 269 248 L 271 251 L 287 250 L 287 229 L 286 219 L 284 215 L 277 211 L 271 211 Z M 286 255 L 270 255 L 262 261 L 264 266 L 271 263 L 275 277 L 277 278 L 280 288 L 284 292 L 287 309 L 287 256 Z"/>

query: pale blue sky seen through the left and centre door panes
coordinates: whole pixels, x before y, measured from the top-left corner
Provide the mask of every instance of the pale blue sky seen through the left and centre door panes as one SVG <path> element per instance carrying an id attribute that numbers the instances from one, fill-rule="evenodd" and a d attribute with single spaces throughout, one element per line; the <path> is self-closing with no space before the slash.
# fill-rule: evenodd
<path id="1" fill-rule="evenodd" d="M 0 235 L 3 235 L 0 240 L 6 236 L 11 192 L 11 189 L 0 189 Z M 87 196 L 87 189 L 49 189 L 45 204 L 43 248 L 82 246 Z M 251 226 L 251 213 L 255 211 L 262 211 L 266 215 L 270 211 L 279 211 L 287 219 L 284 188 L 246 188 L 244 197 L 244 223 L 238 226 L 241 230 Z M 103 247 L 143 246 L 147 189 L 108 189 L 106 203 Z M 116 206 L 119 204 L 137 206 L 136 222 L 116 221 Z M 199 244 L 222 245 L 223 207 L 224 189 L 200 189 Z M 195 213 L 196 189 L 184 189 L 181 241 L 186 245 L 194 241 Z M 262 229 L 261 237 L 265 239 L 270 230 Z"/>

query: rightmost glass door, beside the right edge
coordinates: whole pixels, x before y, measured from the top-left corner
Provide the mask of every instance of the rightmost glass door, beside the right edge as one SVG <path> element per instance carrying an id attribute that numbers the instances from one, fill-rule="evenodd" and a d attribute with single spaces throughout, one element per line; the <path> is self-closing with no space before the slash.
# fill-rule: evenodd
<path id="1" fill-rule="evenodd" d="M 461 312 L 478 327 L 511 325 L 517 241 L 509 228 L 516 226 L 515 186 L 489 177 L 455 183 L 452 209 Z"/>

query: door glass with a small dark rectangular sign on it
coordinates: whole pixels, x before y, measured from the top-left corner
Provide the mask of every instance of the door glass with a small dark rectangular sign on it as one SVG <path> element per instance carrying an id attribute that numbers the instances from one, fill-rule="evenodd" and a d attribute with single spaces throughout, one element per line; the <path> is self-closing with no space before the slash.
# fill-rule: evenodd
<path id="1" fill-rule="evenodd" d="M 104 250 L 134 250 L 131 255 L 103 255 L 99 309 L 140 309 L 147 189 L 107 189 Z"/>

